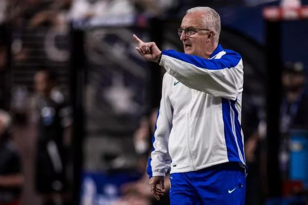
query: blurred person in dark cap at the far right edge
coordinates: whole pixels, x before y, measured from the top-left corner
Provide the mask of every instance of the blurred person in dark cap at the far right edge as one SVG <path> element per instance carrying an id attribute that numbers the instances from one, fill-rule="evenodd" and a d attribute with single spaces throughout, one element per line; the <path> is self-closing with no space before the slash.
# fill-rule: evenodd
<path id="1" fill-rule="evenodd" d="M 304 91 L 305 81 L 303 64 L 288 62 L 284 65 L 279 148 L 279 162 L 283 180 L 288 177 L 290 131 L 292 129 L 308 130 L 308 95 Z"/>

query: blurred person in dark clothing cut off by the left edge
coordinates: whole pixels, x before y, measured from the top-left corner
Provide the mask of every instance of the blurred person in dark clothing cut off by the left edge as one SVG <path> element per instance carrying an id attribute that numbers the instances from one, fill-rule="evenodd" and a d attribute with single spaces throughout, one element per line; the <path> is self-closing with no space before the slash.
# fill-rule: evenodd
<path id="1" fill-rule="evenodd" d="M 20 204 L 24 177 L 21 159 L 12 140 L 10 115 L 0 110 L 0 205 Z"/>

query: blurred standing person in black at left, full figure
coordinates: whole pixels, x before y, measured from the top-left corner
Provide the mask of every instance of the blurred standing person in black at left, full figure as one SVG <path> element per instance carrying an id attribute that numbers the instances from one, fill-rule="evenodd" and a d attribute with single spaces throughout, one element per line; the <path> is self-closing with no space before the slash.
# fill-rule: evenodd
<path id="1" fill-rule="evenodd" d="M 69 109 L 63 94 L 56 88 L 55 75 L 47 70 L 34 76 L 37 122 L 35 188 L 45 205 L 55 204 L 55 196 L 68 203 L 66 180 L 65 128 L 70 126 Z"/>

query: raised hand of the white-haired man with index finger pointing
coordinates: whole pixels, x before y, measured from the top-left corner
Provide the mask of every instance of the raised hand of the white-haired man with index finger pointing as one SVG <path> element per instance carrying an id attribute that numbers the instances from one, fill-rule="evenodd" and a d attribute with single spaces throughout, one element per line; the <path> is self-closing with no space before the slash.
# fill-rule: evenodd
<path id="1" fill-rule="evenodd" d="M 135 34 L 132 37 L 139 45 L 139 47 L 136 47 L 136 50 L 144 59 L 159 63 L 162 52 L 154 42 L 144 43 Z"/>

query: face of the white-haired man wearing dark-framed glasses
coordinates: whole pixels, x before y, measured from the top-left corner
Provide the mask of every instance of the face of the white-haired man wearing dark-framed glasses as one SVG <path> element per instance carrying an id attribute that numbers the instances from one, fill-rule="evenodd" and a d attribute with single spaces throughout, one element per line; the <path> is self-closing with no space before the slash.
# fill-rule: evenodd
<path id="1" fill-rule="evenodd" d="M 201 12 L 191 12 L 184 16 L 182 19 L 181 28 L 195 28 L 195 29 L 208 29 L 202 25 Z M 183 42 L 184 52 L 190 55 L 197 55 L 205 57 L 208 34 L 211 31 L 200 31 L 191 32 L 190 36 L 186 36 L 185 32 L 182 32 L 180 39 Z"/>

